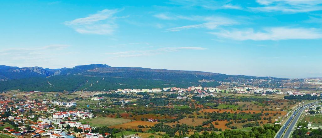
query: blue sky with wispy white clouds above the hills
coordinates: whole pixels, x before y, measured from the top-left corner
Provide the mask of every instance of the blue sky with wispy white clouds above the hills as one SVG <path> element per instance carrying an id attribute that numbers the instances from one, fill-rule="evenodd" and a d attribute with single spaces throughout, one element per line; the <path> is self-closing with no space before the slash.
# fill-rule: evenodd
<path id="1" fill-rule="evenodd" d="M 1 1 L 0 64 L 322 77 L 320 0 Z"/>

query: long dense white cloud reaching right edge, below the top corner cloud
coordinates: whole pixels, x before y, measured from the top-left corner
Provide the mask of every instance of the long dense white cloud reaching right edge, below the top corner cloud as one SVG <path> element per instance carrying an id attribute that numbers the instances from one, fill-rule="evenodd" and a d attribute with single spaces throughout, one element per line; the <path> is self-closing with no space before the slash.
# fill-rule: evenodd
<path id="1" fill-rule="evenodd" d="M 272 27 L 255 32 L 253 29 L 221 31 L 211 33 L 218 37 L 234 40 L 287 40 L 287 39 L 320 39 L 322 33 L 315 28 Z"/>

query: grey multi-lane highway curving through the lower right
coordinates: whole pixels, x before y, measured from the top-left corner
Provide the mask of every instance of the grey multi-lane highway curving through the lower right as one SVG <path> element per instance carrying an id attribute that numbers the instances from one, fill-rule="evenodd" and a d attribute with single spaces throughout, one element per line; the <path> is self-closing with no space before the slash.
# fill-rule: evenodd
<path id="1" fill-rule="evenodd" d="M 279 132 L 275 135 L 275 138 L 289 138 L 289 135 L 292 132 L 292 129 L 295 127 L 296 123 L 298 122 L 298 118 L 301 116 L 301 113 L 305 110 L 305 108 L 320 103 L 320 101 L 305 104 L 304 106 L 298 107 L 289 117 L 289 119 L 284 123 L 284 125 L 279 129 Z M 293 117 L 294 115 L 294 117 Z M 284 136 L 283 133 L 285 132 Z"/>

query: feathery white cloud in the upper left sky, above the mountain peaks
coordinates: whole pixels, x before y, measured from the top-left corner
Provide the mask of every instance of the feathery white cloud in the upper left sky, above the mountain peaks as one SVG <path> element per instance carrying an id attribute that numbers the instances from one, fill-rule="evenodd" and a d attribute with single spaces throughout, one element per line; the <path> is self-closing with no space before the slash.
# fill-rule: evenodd
<path id="1" fill-rule="evenodd" d="M 118 17 L 114 15 L 120 11 L 119 9 L 104 9 L 88 17 L 67 21 L 65 25 L 81 34 L 110 35 L 118 27 L 115 23 Z"/>

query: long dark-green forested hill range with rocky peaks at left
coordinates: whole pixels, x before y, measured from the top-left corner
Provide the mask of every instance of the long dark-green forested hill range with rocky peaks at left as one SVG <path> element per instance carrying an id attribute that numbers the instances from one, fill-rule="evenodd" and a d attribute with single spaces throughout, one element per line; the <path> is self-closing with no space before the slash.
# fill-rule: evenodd
<path id="1" fill-rule="evenodd" d="M 200 71 L 177 71 L 166 69 L 111 67 L 90 64 L 73 68 L 43 69 L 40 67 L 18 68 L 0 66 L 0 91 L 107 91 L 118 88 L 145 89 L 164 87 L 189 87 L 202 85 L 215 87 L 218 81 L 264 79 L 281 81 L 274 77 L 226 75 Z M 208 80 L 212 82 L 201 82 Z"/>

